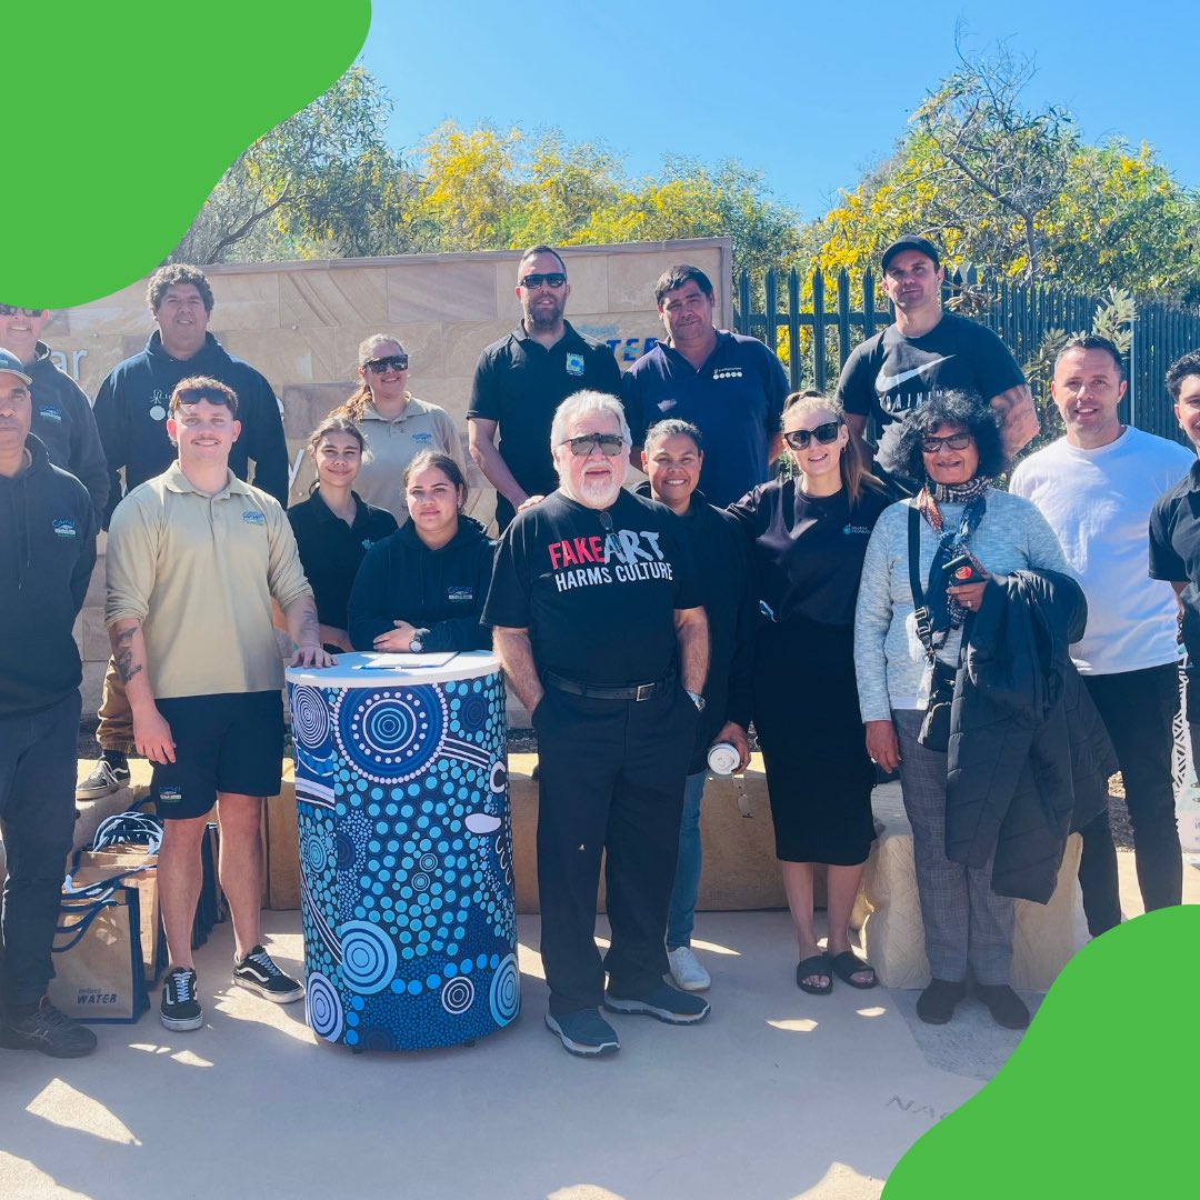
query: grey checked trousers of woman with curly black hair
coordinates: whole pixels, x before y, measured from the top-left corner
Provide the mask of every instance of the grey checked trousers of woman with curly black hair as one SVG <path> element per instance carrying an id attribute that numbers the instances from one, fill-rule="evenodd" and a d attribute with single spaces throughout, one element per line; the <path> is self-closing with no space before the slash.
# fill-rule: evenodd
<path id="1" fill-rule="evenodd" d="M 991 890 L 990 858 L 983 866 L 965 866 L 946 857 L 946 755 L 917 740 L 924 716 L 913 709 L 892 713 L 929 968 L 935 979 L 958 983 L 970 965 L 977 983 L 1008 983 L 1013 901 Z"/>

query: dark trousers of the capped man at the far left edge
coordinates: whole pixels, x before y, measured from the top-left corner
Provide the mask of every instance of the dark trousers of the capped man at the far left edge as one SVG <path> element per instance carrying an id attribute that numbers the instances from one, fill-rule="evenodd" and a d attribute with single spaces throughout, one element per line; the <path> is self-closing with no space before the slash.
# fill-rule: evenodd
<path id="1" fill-rule="evenodd" d="M 4 1000 L 36 1004 L 54 977 L 50 946 L 74 840 L 79 692 L 31 716 L 0 716 Z"/>

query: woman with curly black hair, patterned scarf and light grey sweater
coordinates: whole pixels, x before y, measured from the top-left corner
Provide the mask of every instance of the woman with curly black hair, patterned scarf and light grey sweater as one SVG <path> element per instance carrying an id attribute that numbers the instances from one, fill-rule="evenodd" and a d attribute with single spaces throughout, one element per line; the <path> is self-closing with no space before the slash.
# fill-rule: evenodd
<path id="1" fill-rule="evenodd" d="M 917 1015 L 930 1025 L 950 1020 L 970 967 L 976 995 L 996 1022 L 1025 1028 L 1028 1009 L 1009 986 L 1013 901 L 992 892 L 991 858 L 967 866 L 946 854 L 947 731 L 936 728 L 929 698 L 938 694 L 938 676 L 953 678 L 974 628 L 965 623 L 995 586 L 994 575 L 1070 570 L 1040 512 L 994 486 L 1007 462 L 995 410 L 982 397 L 935 392 L 905 419 L 895 464 L 919 491 L 892 505 L 871 535 L 854 652 L 866 749 L 884 770 L 899 767 L 912 823 L 932 976 Z M 972 733 L 964 730 L 959 737 Z"/>

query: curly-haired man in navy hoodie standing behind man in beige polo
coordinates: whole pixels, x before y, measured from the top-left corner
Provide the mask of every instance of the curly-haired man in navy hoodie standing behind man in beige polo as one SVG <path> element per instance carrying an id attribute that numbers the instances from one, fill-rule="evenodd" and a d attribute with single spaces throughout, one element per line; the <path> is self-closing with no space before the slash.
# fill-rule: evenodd
<path id="1" fill-rule="evenodd" d="M 175 461 L 167 437 L 167 406 L 175 384 L 191 376 L 217 379 L 233 389 L 241 436 L 229 455 L 229 469 L 248 482 L 253 460 L 254 486 L 287 508 L 288 448 L 280 403 L 263 376 L 228 354 L 208 332 L 212 288 L 204 272 L 182 263 L 160 266 L 146 283 L 146 305 L 157 331 L 140 354 L 118 362 L 96 392 L 96 426 L 109 472 L 108 518 L 122 494 L 161 475 Z M 107 796 L 130 780 L 126 755 L 133 750 L 133 718 L 112 661 L 104 676 L 96 740 L 101 757 L 79 785 L 80 799 Z"/>

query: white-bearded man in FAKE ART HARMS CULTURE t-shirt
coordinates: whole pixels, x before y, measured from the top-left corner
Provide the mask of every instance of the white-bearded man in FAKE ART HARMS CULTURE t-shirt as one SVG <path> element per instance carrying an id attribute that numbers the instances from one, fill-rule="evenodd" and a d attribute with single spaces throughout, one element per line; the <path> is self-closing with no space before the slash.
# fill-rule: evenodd
<path id="1" fill-rule="evenodd" d="M 505 530 L 484 607 L 538 733 L 546 1025 L 582 1057 L 619 1049 L 601 1004 L 668 1025 L 709 1010 L 662 978 L 708 625 L 679 518 L 622 490 L 629 445 L 614 397 L 581 391 L 558 407 L 558 490 Z M 601 960 L 605 851 L 612 943 Z"/>

